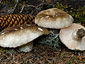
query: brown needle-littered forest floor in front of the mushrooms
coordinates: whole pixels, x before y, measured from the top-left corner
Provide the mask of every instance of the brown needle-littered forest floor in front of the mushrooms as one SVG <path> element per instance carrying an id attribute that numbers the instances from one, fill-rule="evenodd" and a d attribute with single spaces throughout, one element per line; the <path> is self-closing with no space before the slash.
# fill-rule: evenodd
<path id="1" fill-rule="evenodd" d="M 28 53 L 0 48 L 0 64 L 85 64 L 85 51 L 71 51 L 65 46 L 55 50 L 42 44 L 34 45 Z"/>

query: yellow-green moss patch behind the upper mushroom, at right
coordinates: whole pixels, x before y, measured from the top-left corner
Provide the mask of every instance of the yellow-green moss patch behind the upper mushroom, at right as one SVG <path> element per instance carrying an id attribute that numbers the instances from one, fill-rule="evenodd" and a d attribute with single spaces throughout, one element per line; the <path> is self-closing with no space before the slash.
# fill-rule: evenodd
<path id="1" fill-rule="evenodd" d="M 57 2 L 53 7 L 57 7 L 73 16 L 75 23 L 82 23 L 85 26 L 85 6 L 75 8 L 71 4 Z"/>

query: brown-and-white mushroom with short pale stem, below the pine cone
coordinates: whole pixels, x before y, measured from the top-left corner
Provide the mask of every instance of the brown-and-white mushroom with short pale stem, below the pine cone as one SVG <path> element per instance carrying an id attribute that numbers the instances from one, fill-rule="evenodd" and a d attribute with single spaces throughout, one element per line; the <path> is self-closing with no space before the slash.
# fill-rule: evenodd
<path id="1" fill-rule="evenodd" d="M 41 35 L 47 35 L 49 31 L 46 28 L 35 25 L 20 25 L 9 27 L 0 32 L 0 46 L 16 48 L 23 52 L 29 52 L 32 49 L 32 41 Z M 25 50 L 26 49 L 26 50 Z"/>

